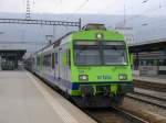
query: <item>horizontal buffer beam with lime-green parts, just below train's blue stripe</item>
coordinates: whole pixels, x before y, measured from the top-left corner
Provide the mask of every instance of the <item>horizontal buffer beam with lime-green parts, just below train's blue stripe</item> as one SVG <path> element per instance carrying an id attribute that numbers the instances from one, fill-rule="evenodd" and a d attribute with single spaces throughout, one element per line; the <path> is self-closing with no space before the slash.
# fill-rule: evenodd
<path id="1" fill-rule="evenodd" d="M 80 91 L 80 96 L 111 96 L 111 94 L 125 94 L 134 91 L 132 82 L 79 82 L 73 83 L 72 90 Z"/>

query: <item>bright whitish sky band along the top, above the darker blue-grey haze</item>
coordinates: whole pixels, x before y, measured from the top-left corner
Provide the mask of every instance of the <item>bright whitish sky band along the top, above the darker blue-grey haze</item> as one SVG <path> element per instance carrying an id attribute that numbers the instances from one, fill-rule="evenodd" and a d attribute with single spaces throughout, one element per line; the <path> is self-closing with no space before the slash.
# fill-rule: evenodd
<path id="1" fill-rule="evenodd" d="M 24 13 L 27 0 L 0 0 L 0 12 Z M 147 2 L 143 2 L 147 1 Z M 34 13 L 166 14 L 166 0 L 30 0 Z"/>

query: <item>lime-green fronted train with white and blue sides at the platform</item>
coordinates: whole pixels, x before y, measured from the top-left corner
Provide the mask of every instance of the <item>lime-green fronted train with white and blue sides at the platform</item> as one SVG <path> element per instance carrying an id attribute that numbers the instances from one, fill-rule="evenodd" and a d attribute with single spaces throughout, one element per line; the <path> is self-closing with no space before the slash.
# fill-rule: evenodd
<path id="1" fill-rule="evenodd" d="M 27 65 L 83 108 L 121 104 L 134 88 L 124 36 L 102 24 L 68 33 L 33 54 Z"/>

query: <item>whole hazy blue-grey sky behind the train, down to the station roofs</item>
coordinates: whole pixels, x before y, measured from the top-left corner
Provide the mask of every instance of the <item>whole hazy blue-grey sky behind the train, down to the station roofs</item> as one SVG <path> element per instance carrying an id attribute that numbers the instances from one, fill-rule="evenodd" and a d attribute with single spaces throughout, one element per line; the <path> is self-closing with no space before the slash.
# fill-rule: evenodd
<path id="1" fill-rule="evenodd" d="M 33 13 L 31 19 L 75 21 L 82 18 L 83 24 L 96 22 L 114 29 L 115 24 L 124 23 L 125 13 L 126 26 L 133 27 L 134 42 L 166 38 L 166 0 L 30 0 L 30 3 Z M 0 0 L 0 18 L 24 18 L 25 4 L 27 0 Z M 0 24 L 0 32 L 4 32 L 0 35 L 0 42 L 45 42 L 45 35 L 51 34 L 56 38 L 70 30 L 55 27 L 53 31 L 52 26 Z"/>

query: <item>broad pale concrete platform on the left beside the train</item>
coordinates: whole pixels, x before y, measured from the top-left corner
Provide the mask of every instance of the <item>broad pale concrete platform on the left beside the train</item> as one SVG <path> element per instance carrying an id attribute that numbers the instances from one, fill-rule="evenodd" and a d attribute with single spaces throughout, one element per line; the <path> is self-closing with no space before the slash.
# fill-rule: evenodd
<path id="1" fill-rule="evenodd" d="M 0 123 L 95 123 L 28 71 L 0 71 Z"/>

